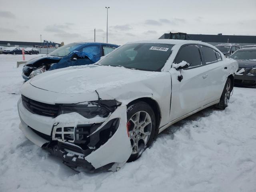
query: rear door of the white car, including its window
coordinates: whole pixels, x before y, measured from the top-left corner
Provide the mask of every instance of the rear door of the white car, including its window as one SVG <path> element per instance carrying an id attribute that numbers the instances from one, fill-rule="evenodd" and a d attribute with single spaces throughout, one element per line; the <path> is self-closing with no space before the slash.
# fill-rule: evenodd
<path id="1" fill-rule="evenodd" d="M 204 103 L 206 105 L 220 99 L 228 76 L 228 70 L 217 50 L 204 45 L 200 45 L 200 49 L 204 64 L 207 66 L 207 91 Z"/>

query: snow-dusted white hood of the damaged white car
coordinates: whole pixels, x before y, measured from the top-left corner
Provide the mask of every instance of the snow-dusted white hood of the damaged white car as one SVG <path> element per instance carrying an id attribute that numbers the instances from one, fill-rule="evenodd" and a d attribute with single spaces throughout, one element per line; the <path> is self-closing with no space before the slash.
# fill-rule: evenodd
<path id="1" fill-rule="evenodd" d="M 159 77 L 161 74 L 163 73 L 123 67 L 88 65 L 47 71 L 32 78 L 30 84 L 36 88 L 58 94 L 84 95 L 85 100 L 87 97 L 92 98 L 93 94 L 94 100 L 97 100 L 98 96 L 95 90 L 101 98 L 103 98 L 102 94 L 116 98 L 124 92 L 129 94 L 131 89 L 136 89 L 138 82 L 141 83 L 149 78 L 152 80 L 153 77 Z M 128 84 L 129 86 L 125 86 Z M 143 87 L 140 89 L 145 92 Z"/>

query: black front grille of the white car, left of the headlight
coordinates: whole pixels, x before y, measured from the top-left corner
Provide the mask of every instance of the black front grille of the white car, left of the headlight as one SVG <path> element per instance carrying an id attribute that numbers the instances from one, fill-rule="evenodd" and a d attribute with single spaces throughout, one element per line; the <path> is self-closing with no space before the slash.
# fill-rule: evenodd
<path id="1" fill-rule="evenodd" d="M 41 103 L 41 102 L 32 100 L 30 98 L 27 98 L 24 95 L 21 95 L 21 97 L 22 97 L 22 103 L 28 111 L 34 114 L 42 115 L 42 116 L 48 116 L 48 117 L 58 116 L 58 111 L 59 111 L 58 105 Z"/>

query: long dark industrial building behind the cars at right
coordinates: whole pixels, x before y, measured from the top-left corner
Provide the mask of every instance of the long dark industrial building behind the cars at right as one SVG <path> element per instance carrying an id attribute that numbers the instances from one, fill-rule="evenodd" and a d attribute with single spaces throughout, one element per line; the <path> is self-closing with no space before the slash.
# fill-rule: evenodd
<path id="1" fill-rule="evenodd" d="M 221 43 L 236 43 L 241 46 L 255 45 L 256 36 L 246 35 L 205 35 L 205 34 L 186 34 L 186 33 L 165 33 L 159 39 L 182 39 L 182 40 L 196 40 L 202 41 L 213 46 Z"/>

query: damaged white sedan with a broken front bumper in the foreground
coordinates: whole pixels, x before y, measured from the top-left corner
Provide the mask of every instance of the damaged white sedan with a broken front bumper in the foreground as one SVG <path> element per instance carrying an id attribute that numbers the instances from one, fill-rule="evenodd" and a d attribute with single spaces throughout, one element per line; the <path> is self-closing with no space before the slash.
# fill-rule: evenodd
<path id="1" fill-rule="evenodd" d="M 237 70 L 203 42 L 128 43 L 96 64 L 24 83 L 20 129 L 68 166 L 116 171 L 175 122 L 208 106 L 226 108 Z"/>

